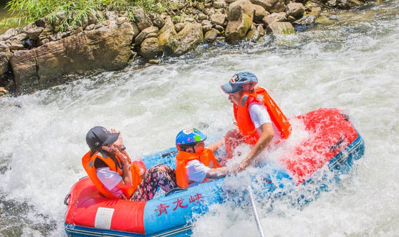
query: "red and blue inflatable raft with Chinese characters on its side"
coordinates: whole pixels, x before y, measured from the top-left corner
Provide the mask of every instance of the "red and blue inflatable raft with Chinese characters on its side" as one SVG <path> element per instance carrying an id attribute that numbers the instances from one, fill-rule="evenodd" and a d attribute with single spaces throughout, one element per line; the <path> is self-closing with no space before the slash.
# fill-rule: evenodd
<path id="1" fill-rule="evenodd" d="M 348 173 L 354 160 L 364 154 L 364 142 L 349 120 L 338 109 L 318 109 L 297 117 L 311 134 L 293 151 L 280 158 L 280 166 L 264 167 L 262 192 L 284 196 L 287 190 L 310 187 L 313 193 Z M 176 149 L 146 156 L 147 168 L 164 163 L 175 167 Z M 281 165 L 282 164 L 282 165 Z M 260 169 L 263 171 L 263 167 Z M 320 177 L 327 171 L 327 178 Z M 322 175 L 323 176 L 323 175 Z M 332 177 L 332 178 L 331 178 Z M 314 180 L 326 179 L 320 184 Z M 203 183 L 188 190 L 176 189 L 148 202 L 108 199 L 97 192 L 89 178 L 80 179 L 65 198 L 65 231 L 68 236 L 89 237 L 167 237 L 190 236 L 193 216 L 223 202 L 224 179 Z M 312 184 L 312 185 L 310 185 Z M 311 199 L 298 196 L 294 202 Z"/>

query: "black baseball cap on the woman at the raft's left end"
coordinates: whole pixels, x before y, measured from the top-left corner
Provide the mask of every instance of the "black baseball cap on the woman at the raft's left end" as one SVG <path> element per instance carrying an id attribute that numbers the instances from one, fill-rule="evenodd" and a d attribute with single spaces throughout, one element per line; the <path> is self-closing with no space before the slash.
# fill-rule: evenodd
<path id="1" fill-rule="evenodd" d="M 95 151 L 104 144 L 111 144 L 118 140 L 119 133 L 111 133 L 102 126 L 95 126 L 86 134 L 86 143 Z"/>

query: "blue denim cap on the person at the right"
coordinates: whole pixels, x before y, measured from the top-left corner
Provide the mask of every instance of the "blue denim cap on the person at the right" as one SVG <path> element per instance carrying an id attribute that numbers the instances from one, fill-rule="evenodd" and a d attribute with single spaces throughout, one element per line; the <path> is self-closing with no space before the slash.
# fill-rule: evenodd
<path id="1" fill-rule="evenodd" d="M 234 94 L 238 91 L 251 91 L 258 83 L 258 78 L 252 72 L 238 72 L 234 74 L 231 79 L 221 85 L 221 89 L 226 94 Z"/>

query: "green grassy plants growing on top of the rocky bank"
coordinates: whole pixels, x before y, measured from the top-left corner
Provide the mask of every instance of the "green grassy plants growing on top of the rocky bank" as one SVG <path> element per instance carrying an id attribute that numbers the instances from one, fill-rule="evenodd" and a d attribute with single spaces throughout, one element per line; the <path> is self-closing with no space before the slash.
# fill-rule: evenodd
<path id="1" fill-rule="evenodd" d="M 76 27 L 96 10 L 127 11 L 133 20 L 133 10 L 143 8 L 147 12 L 164 12 L 168 1 L 159 0 L 10 0 L 6 7 L 12 17 L 0 21 L 1 27 L 23 26 L 46 17 L 50 23 L 57 22 L 57 30 L 64 31 L 69 25 Z M 57 12 L 65 12 L 60 19 Z M 102 20 L 102 19 L 99 19 Z"/>

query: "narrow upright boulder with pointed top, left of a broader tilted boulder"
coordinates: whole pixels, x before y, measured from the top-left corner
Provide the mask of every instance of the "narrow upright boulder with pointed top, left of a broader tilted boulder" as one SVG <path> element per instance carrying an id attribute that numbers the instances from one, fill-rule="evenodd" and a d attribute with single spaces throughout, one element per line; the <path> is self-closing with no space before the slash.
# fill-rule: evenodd
<path id="1" fill-rule="evenodd" d="M 173 53 L 176 50 L 176 36 L 177 32 L 175 30 L 175 25 L 172 22 L 170 16 L 166 17 L 165 24 L 158 32 L 158 45 L 159 47 L 168 52 Z"/>

